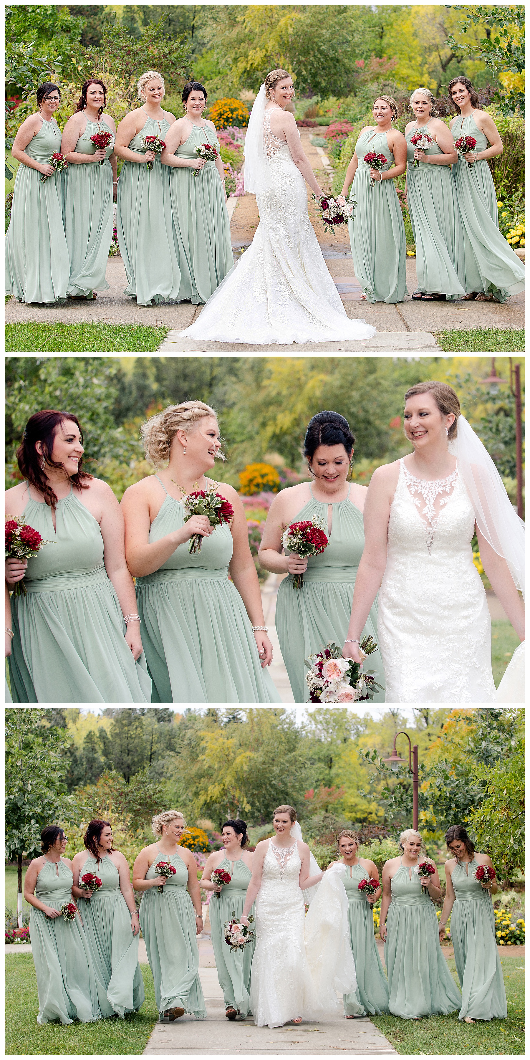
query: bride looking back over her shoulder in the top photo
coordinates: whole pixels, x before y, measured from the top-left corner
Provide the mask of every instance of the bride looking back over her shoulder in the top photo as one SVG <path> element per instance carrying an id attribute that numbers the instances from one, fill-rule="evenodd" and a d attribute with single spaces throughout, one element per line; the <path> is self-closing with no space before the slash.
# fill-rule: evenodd
<path id="1" fill-rule="evenodd" d="M 285 110 L 290 74 L 267 74 L 245 139 L 245 191 L 257 196 L 260 224 L 243 258 L 181 338 L 268 344 L 367 339 L 375 328 L 349 320 L 307 214 L 305 181 L 321 188 Z"/>

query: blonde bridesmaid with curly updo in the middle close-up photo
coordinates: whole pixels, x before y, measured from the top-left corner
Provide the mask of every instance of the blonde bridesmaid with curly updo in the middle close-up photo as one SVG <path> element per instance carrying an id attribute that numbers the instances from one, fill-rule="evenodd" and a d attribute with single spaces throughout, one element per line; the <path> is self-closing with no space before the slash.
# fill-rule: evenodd
<path id="1" fill-rule="evenodd" d="M 214 410 L 199 401 L 170 405 L 142 436 L 147 460 L 157 467 L 170 461 L 122 499 L 152 702 L 279 703 L 265 669 L 272 646 L 243 505 L 233 487 L 206 477 L 220 449 Z M 206 515 L 184 522 L 182 497 L 208 485 L 233 507 L 230 526 L 212 527 Z M 193 534 L 202 545 L 190 555 Z"/>

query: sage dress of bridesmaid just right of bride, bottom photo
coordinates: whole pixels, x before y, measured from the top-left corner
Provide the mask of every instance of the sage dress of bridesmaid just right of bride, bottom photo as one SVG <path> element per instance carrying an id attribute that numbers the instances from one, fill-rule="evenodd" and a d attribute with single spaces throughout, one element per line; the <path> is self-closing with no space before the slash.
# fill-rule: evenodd
<path id="1" fill-rule="evenodd" d="M 359 880 L 369 879 L 363 865 L 344 865 L 342 883 L 348 895 L 350 946 L 357 976 L 357 989 L 342 996 L 344 1015 L 388 1012 L 388 983 L 373 934 L 373 906 L 358 889 Z"/>

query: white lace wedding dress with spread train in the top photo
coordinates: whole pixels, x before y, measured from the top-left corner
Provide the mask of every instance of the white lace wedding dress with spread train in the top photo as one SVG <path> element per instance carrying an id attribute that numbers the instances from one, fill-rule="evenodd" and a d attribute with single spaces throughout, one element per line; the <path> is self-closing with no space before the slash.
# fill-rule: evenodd
<path id="1" fill-rule="evenodd" d="M 250 346 L 371 338 L 375 328 L 346 315 L 310 222 L 305 180 L 270 129 L 270 109 L 263 135 L 272 187 L 257 195 L 253 241 L 180 337 Z"/>

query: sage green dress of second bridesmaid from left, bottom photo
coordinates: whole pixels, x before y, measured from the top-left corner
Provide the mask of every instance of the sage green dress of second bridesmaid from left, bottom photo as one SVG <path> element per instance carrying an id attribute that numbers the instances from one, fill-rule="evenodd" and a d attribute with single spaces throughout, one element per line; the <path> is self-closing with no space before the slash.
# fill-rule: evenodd
<path id="1" fill-rule="evenodd" d="M 92 957 L 100 1008 L 104 1017 L 136 1012 L 144 1001 L 138 964 L 139 935 L 130 926 L 130 912 L 120 890 L 120 873 L 106 854 L 98 864 L 90 854 L 80 872 L 99 876 L 103 886 L 91 898 L 77 899 Z"/>

